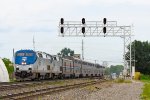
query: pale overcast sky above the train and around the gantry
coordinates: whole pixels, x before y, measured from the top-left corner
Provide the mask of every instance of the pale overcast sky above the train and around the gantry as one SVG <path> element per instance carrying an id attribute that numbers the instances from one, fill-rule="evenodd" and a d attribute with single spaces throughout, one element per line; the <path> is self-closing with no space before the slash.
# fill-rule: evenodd
<path id="1" fill-rule="evenodd" d="M 57 54 L 68 47 L 81 53 L 84 40 L 85 59 L 122 62 L 121 38 L 58 37 L 60 18 L 65 20 L 108 20 L 119 25 L 133 25 L 133 39 L 150 39 L 149 0 L 0 0 L 0 57 L 12 59 L 12 50 L 33 49 Z M 110 63 L 112 63 L 110 62 Z"/>

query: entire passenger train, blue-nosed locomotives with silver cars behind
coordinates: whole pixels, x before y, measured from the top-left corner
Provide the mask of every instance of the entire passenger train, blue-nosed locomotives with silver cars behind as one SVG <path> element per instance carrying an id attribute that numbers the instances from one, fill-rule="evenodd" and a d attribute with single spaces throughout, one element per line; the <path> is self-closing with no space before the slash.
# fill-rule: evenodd
<path id="1" fill-rule="evenodd" d="M 59 57 L 33 50 L 19 50 L 15 53 L 14 59 L 17 80 L 102 77 L 105 70 L 99 64 L 83 61 L 79 58 Z"/>

